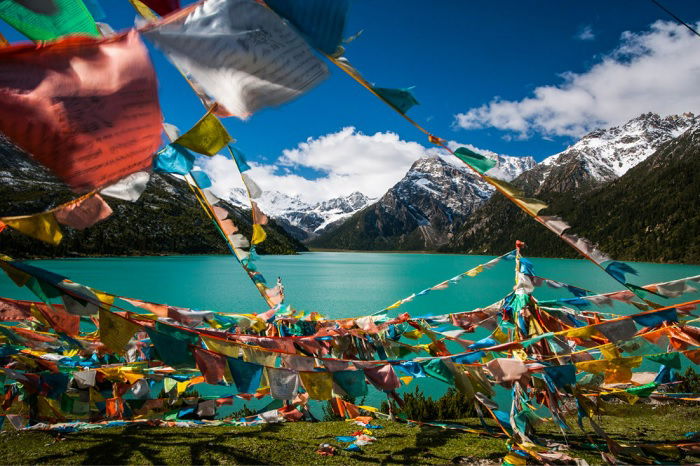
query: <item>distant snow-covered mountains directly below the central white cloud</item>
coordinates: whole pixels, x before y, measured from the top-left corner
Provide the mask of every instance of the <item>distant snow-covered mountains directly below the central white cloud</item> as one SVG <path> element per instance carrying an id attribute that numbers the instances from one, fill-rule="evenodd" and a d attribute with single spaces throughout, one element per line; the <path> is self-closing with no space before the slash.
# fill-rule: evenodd
<path id="1" fill-rule="evenodd" d="M 248 198 L 242 189 L 232 192 L 229 198 L 235 205 L 248 206 Z M 256 202 L 263 212 L 274 218 L 290 235 L 306 241 L 333 229 L 375 200 L 360 192 L 354 192 L 348 196 L 309 204 L 299 196 L 266 191 Z"/>

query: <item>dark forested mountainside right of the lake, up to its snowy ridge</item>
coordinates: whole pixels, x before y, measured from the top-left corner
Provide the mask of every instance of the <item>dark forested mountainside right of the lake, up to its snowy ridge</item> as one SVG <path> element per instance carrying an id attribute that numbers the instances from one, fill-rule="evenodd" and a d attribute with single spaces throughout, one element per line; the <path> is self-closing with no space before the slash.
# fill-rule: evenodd
<path id="1" fill-rule="evenodd" d="M 700 122 L 690 115 L 660 119 L 647 114 L 622 128 L 630 126 L 648 131 L 635 131 L 638 137 L 633 139 L 634 133 L 615 135 L 619 128 L 613 128 L 582 140 L 581 146 L 599 149 L 603 146 L 598 142 L 604 139 L 622 144 L 628 141 L 630 146 L 636 141 L 636 149 L 630 153 L 613 152 L 619 148 L 614 143 L 596 151 L 609 154 L 606 161 L 619 158 L 618 163 L 605 164 L 607 171 L 600 168 L 603 164 L 597 165 L 598 171 L 591 168 L 602 157 L 581 157 L 582 151 L 577 152 L 575 157 L 583 162 L 578 165 L 583 169 L 579 173 L 602 178 L 597 183 L 577 184 L 581 178 L 560 170 L 559 162 L 555 166 L 553 160 L 522 174 L 514 183 L 549 203 L 541 214 L 563 217 L 572 231 L 598 243 L 611 257 L 700 263 Z M 596 134 L 612 137 L 598 138 Z M 567 151 L 562 154 L 567 157 Z M 572 152 L 569 155 L 574 157 Z M 533 186 L 533 172 L 547 176 Z M 618 173 L 622 173 L 619 178 Z M 516 239 L 528 244 L 529 255 L 574 257 L 573 250 L 503 196 L 484 203 L 444 250 L 496 254 L 512 248 Z"/>

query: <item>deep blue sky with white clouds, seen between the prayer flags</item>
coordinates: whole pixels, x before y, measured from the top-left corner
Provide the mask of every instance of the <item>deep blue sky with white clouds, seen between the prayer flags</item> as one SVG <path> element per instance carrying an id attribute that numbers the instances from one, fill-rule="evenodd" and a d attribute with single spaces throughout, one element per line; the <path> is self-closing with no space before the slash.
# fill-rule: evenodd
<path id="1" fill-rule="evenodd" d="M 126 0 L 100 1 L 106 12 L 102 21 L 116 30 L 133 24 L 134 14 Z M 688 22 L 700 19 L 697 1 L 664 3 Z M 659 20 L 664 23 L 655 23 Z M 363 34 L 346 47 L 346 56 L 370 82 L 381 87 L 415 86 L 421 105 L 409 111 L 412 118 L 445 139 L 500 154 L 541 160 L 565 149 L 586 130 L 624 122 L 640 110 L 664 114 L 700 106 L 697 86 L 688 88 L 689 83 L 700 82 L 698 69 L 679 64 L 674 71 L 681 60 L 669 64 L 663 58 L 673 60 L 674 53 L 684 56 L 693 46 L 700 50 L 700 38 L 688 45 L 685 36 L 689 34 L 646 0 L 353 0 L 346 36 L 360 30 Z M 0 32 L 11 42 L 22 40 L 6 24 L 0 25 Z M 673 42 L 678 34 L 684 34 L 685 48 L 669 52 L 664 40 Z M 649 50 L 635 50 L 644 47 Z M 165 119 L 186 130 L 202 116 L 203 108 L 167 60 L 150 44 L 149 49 Z M 625 75 L 626 67 L 655 54 L 657 61 L 648 66 L 640 63 L 645 66 L 638 73 L 627 70 Z M 329 67 L 330 78 L 294 102 L 260 111 L 245 122 L 225 120 L 238 147 L 258 164 L 254 174 L 264 189 L 279 181 L 275 177 L 288 174 L 295 177 L 280 184 L 288 191 L 295 190 L 295 181 L 304 184 L 299 177 L 327 178 L 327 186 L 317 192 L 299 188 L 298 194 L 309 199 L 324 197 L 326 191 L 347 191 L 340 185 L 349 186 L 354 178 L 343 178 L 348 173 L 341 173 L 334 181 L 328 164 L 347 162 L 354 150 L 369 151 L 368 160 L 351 170 L 357 177 L 373 170 L 372 160 L 391 158 L 393 144 L 405 154 L 396 157 L 400 163 L 383 183 L 388 186 L 377 187 L 379 192 L 396 181 L 396 173 L 405 172 L 421 147 L 429 146 L 422 133 L 340 70 Z M 666 82 L 661 75 L 664 70 L 687 79 Z M 626 95 L 624 86 L 631 74 L 647 76 L 648 82 L 638 83 Z M 573 85 L 567 87 L 567 82 Z M 542 96 L 533 98 L 538 92 Z M 590 97 L 582 94 L 592 94 L 593 101 L 582 102 Z M 343 132 L 349 127 L 355 130 Z M 392 134 L 375 139 L 377 133 Z M 309 138 L 307 146 L 299 146 Z M 369 149 L 375 142 L 386 149 L 376 157 Z M 348 145 L 340 147 L 343 144 Z M 327 163 L 319 162 L 324 152 L 336 150 Z M 391 171 L 390 165 L 386 161 L 376 168 Z M 223 162 L 209 168 L 221 167 Z M 219 181 L 228 182 L 225 177 Z"/>

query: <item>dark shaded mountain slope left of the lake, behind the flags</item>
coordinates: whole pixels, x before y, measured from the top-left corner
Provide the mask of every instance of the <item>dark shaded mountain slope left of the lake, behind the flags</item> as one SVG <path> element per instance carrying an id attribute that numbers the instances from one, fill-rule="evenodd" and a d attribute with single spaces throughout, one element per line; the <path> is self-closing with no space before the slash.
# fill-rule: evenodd
<path id="1" fill-rule="evenodd" d="M 0 138 L 0 216 L 42 212 L 75 197 L 49 172 Z M 228 253 L 184 181 L 153 174 L 137 202 L 105 199 L 114 210 L 112 216 L 83 231 L 62 227 L 64 238 L 57 247 L 6 228 L 0 233 L 0 252 L 17 258 Z M 249 211 L 223 201 L 219 205 L 230 212 L 243 234 L 251 234 Z M 267 240 L 258 247 L 261 254 L 306 250 L 274 221 L 266 231 Z"/>

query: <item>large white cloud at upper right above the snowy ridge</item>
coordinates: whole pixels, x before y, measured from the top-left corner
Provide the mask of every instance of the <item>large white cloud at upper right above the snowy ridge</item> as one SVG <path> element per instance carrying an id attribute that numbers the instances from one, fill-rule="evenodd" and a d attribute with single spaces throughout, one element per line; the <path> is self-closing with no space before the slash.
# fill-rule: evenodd
<path id="1" fill-rule="evenodd" d="M 697 111 L 700 42 L 683 26 L 657 21 L 648 31 L 624 32 L 619 46 L 587 72 L 562 77 L 562 84 L 538 87 L 532 97 L 495 98 L 459 113 L 455 126 L 494 127 L 519 138 L 533 133 L 579 137 L 649 111 Z"/>

